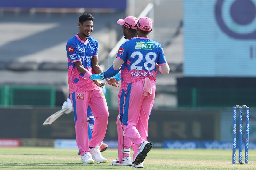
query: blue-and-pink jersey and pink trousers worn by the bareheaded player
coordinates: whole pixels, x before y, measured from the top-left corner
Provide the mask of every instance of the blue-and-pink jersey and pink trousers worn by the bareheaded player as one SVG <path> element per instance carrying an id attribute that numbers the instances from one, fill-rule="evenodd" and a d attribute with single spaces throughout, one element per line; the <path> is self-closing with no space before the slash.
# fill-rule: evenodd
<path id="1" fill-rule="evenodd" d="M 98 56 L 98 41 L 87 37 L 86 41 L 78 35 L 68 40 L 68 85 L 70 99 L 74 109 L 76 143 L 80 150 L 80 155 L 89 151 L 90 147 L 100 145 L 105 137 L 108 124 L 108 107 L 105 95 L 102 90 L 90 79 L 76 68 L 74 62 L 81 61 L 84 68 L 92 73 L 91 61 Z M 88 144 L 87 109 L 90 104 L 95 117 L 94 131 Z"/>

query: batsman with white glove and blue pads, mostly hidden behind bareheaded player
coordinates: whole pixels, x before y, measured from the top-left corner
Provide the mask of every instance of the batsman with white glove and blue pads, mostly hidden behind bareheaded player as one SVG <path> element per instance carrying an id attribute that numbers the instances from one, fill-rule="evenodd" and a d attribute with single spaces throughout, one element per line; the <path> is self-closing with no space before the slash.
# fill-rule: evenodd
<path id="1" fill-rule="evenodd" d="M 101 88 L 102 92 L 104 95 L 106 95 L 106 88 L 105 86 L 103 86 Z M 70 96 L 68 96 L 67 98 L 67 101 L 65 101 L 62 105 L 62 109 L 64 108 L 67 108 L 68 110 L 65 112 L 66 114 L 69 114 L 70 112 L 73 111 L 73 107 L 72 107 L 72 103 L 71 103 L 71 100 L 70 100 Z M 94 121 L 95 121 L 95 118 L 92 114 L 92 109 L 90 107 L 90 105 L 88 106 L 88 109 L 87 109 L 87 123 L 88 123 L 88 137 L 89 137 L 89 141 L 91 140 L 92 138 L 92 133 L 93 133 L 93 125 L 94 125 Z M 103 152 L 105 151 L 106 149 L 108 149 L 108 145 L 105 144 L 103 141 L 101 142 L 100 144 L 100 152 Z M 80 151 L 78 152 L 78 154 L 80 155 Z"/>

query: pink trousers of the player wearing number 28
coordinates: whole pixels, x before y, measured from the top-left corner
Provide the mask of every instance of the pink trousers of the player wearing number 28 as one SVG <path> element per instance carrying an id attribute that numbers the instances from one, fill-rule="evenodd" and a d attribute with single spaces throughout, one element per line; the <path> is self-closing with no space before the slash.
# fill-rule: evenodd
<path id="1" fill-rule="evenodd" d="M 124 131 L 135 146 L 134 155 L 137 154 L 140 144 L 147 141 L 148 137 L 148 119 L 156 91 L 155 81 L 150 80 L 150 83 L 152 86 L 150 96 L 143 95 L 145 91 L 143 91 L 144 83 L 142 80 L 129 83 L 125 93 L 123 108 Z"/>

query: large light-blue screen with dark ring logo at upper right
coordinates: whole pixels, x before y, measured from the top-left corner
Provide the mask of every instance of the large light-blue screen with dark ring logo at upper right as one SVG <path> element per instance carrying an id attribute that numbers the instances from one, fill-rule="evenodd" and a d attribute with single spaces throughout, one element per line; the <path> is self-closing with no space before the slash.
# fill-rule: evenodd
<path id="1" fill-rule="evenodd" d="M 184 0 L 184 75 L 256 76 L 256 0 Z"/>

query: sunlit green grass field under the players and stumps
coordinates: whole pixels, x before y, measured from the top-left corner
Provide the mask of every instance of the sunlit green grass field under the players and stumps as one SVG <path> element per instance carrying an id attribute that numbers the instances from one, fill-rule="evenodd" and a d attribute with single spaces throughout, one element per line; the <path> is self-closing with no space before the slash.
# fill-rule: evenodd
<path id="1" fill-rule="evenodd" d="M 238 154 L 238 152 L 236 152 Z M 131 169 L 113 166 L 116 149 L 102 152 L 107 163 L 80 164 L 77 150 L 53 148 L 0 148 L 0 169 Z M 237 157 L 238 155 L 236 155 Z M 152 149 L 144 161 L 145 169 L 255 169 L 256 150 L 249 151 L 249 164 L 232 164 L 231 150 L 167 150 Z M 236 159 L 238 162 L 238 159 Z M 244 152 L 243 152 L 244 162 Z"/>

